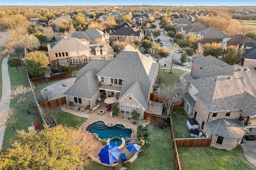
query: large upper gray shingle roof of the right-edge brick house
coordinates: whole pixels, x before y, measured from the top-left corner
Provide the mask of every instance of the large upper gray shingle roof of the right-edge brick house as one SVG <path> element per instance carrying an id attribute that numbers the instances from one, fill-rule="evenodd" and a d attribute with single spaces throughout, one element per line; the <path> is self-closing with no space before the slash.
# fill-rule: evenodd
<path id="1" fill-rule="evenodd" d="M 223 69 L 220 68 L 220 70 Z M 229 72 L 228 70 L 233 71 L 230 71 L 230 75 L 220 74 L 189 80 L 199 91 L 195 95 L 196 98 L 209 112 L 242 110 L 249 117 L 253 117 L 256 115 L 256 71 L 248 66 L 240 65 L 227 66 L 225 69 L 227 72 Z M 205 75 L 212 73 L 212 69 L 203 69 L 202 71 L 208 72 Z M 188 82 L 184 83 L 188 84 Z"/>

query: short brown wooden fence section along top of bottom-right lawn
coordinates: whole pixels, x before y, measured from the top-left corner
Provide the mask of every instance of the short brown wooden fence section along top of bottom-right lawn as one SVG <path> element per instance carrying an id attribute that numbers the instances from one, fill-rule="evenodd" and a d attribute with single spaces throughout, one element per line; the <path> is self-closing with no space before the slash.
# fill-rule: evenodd
<path id="1" fill-rule="evenodd" d="M 210 147 L 212 138 L 185 138 L 185 139 L 175 139 L 176 145 L 180 147 Z"/>

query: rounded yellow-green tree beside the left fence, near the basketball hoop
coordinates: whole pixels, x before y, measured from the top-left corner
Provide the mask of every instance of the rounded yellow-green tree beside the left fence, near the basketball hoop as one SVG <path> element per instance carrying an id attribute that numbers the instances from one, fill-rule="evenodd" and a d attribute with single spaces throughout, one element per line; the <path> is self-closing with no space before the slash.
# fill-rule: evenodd
<path id="1" fill-rule="evenodd" d="M 44 76 L 44 69 L 48 66 L 49 59 L 43 51 L 32 51 L 26 57 L 28 75 L 31 78 Z"/>

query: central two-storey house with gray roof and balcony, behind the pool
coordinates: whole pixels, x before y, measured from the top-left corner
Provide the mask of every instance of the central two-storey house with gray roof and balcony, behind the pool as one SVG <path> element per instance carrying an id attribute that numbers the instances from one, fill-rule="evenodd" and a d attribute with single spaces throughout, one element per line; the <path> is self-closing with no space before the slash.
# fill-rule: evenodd
<path id="1" fill-rule="evenodd" d="M 84 66 L 63 95 L 69 103 L 93 108 L 97 98 L 117 98 L 120 114 L 132 116 L 134 109 L 144 117 L 150 93 L 158 74 L 158 63 L 151 56 L 142 55 L 138 49 L 127 45 L 112 61 L 92 60 Z"/>

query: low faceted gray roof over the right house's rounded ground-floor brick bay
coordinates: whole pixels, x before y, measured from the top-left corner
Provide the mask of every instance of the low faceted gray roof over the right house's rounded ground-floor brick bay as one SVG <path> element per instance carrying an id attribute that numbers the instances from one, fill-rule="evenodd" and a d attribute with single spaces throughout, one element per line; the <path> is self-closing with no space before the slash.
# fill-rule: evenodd
<path id="1" fill-rule="evenodd" d="M 219 118 L 205 123 L 212 135 L 218 135 L 225 138 L 240 138 L 249 132 L 242 127 L 239 119 Z"/>

